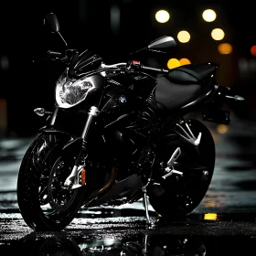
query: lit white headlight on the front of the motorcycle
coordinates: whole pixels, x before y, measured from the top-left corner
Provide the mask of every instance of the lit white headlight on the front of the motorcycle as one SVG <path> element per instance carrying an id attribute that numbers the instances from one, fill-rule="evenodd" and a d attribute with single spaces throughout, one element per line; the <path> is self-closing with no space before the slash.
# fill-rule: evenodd
<path id="1" fill-rule="evenodd" d="M 83 101 L 93 88 L 93 81 L 90 78 L 73 80 L 64 73 L 56 83 L 56 101 L 60 107 L 69 108 Z"/>

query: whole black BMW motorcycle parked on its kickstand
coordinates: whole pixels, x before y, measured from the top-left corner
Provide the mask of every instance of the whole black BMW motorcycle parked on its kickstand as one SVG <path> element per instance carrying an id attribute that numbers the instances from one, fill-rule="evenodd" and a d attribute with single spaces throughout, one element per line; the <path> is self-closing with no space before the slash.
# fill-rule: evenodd
<path id="1" fill-rule="evenodd" d="M 64 40 L 54 14 L 44 21 Z M 149 203 L 163 219 L 197 208 L 216 155 L 208 127 L 189 114 L 229 123 L 224 101 L 243 98 L 217 84 L 215 63 L 158 69 L 140 59 L 175 47 L 174 37 L 160 37 L 112 65 L 90 50 L 48 51 L 66 69 L 56 82 L 54 110 L 35 109 L 46 125 L 18 173 L 17 202 L 31 229 L 65 229 L 80 208 L 140 199 L 148 224 Z"/>

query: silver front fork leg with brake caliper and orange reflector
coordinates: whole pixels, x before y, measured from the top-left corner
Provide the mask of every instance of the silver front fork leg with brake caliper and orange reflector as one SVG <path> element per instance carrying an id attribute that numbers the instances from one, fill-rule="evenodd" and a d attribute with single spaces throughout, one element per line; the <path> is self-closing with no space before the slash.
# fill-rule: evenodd
<path id="1" fill-rule="evenodd" d="M 91 124 L 94 123 L 95 117 L 98 114 L 99 114 L 98 108 L 95 106 L 92 106 L 90 111 L 88 112 L 88 119 L 87 119 L 87 122 L 85 123 L 83 132 L 81 133 L 82 146 L 80 149 L 80 153 L 76 158 L 75 165 L 73 166 L 70 175 L 66 178 L 64 182 L 64 187 L 73 189 L 73 188 L 81 187 L 82 185 L 84 185 L 84 184 L 80 184 L 80 177 L 79 177 L 80 172 L 82 172 L 83 176 L 85 176 L 85 173 L 84 173 L 85 170 L 83 168 L 79 168 L 80 158 L 86 150 L 86 142 L 91 130 Z"/>

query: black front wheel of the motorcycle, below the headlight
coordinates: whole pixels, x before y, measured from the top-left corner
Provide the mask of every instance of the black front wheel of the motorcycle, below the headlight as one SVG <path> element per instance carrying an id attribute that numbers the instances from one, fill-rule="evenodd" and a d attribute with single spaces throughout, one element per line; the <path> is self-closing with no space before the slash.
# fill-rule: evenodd
<path id="1" fill-rule="evenodd" d="M 71 161 L 62 159 L 61 149 L 69 141 L 61 134 L 39 134 L 27 149 L 17 178 L 17 203 L 27 225 L 34 230 L 64 229 L 83 202 L 83 189 L 63 187 Z M 74 157 L 74 155 L 70 155 Z"/>

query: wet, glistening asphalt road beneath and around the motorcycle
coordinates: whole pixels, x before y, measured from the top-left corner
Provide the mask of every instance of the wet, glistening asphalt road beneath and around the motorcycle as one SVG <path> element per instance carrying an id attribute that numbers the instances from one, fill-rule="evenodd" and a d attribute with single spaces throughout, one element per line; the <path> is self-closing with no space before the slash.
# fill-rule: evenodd
<path id="1" fill-rule="evenodd" d="M 0 255 L 254 255 L 256 123 L 231 120 L 226 133 L 206 123 L 216 142 L 217 160 L 201 204 L 187 219 L 169 223 L 157 219 L 150 208 L 152 226 L 146 225 L 139 201 L 83 209 L 61 232 L 34 232 L 16 203 L 18 167 L 33 138 L 1 140 Z"/>

